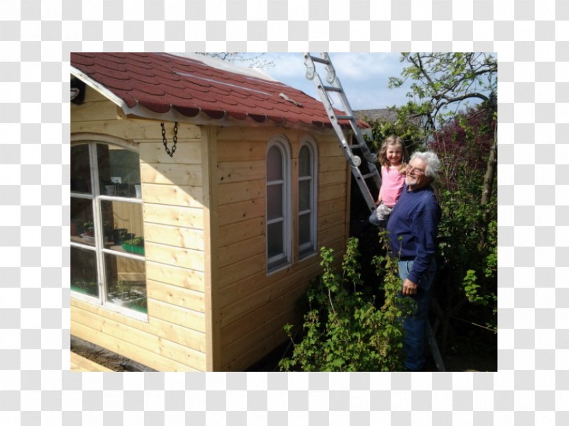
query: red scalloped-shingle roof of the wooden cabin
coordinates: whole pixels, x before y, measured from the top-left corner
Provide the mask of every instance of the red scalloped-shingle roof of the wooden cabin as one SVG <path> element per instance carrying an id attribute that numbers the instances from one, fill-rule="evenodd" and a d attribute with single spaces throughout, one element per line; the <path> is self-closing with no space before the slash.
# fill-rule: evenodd
<path id="1" fill-rule="evenodd" d="M 213 120 L 220 125 L 237 120 L 331 127 L 324 105 L 304 92 L 258 71 L 241 68 L 238 73 L 233 64 L 198 57 L 71 53 L 71 73 L 117 103 L 125 114 L 193 123 Z"/>

